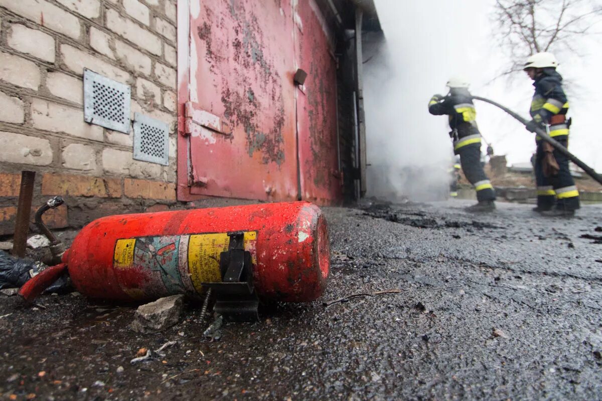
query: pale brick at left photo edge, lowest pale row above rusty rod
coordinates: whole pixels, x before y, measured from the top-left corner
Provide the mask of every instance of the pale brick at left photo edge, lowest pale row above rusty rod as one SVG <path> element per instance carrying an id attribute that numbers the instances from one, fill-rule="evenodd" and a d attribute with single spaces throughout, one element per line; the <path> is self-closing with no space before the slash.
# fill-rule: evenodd
<path id="1" fill-rule="evenodd" d="M 47 166 L 52 163 L 48 139 L 0 132 L 0 162 Z"/>

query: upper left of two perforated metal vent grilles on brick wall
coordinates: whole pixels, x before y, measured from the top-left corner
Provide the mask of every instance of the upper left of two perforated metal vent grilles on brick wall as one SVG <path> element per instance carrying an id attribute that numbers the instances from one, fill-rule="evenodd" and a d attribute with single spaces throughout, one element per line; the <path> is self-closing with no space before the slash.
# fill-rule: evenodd
<path id="1" fill-rule="evenodd" d="M 84 70 L 84 120 L 129 133 L 131 89 L 128 85 Z"/>

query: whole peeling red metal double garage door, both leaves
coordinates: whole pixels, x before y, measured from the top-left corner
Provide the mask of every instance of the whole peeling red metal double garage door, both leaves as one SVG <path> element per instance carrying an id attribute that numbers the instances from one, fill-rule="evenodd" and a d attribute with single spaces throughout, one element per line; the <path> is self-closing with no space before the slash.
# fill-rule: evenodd
<path id="1" fill-rule="evenodd" d="M 314 0 L 178 2 L 179 200 L 295 200 L 299 180 L 304 200 L 340 199 L 323 25 Z"/>

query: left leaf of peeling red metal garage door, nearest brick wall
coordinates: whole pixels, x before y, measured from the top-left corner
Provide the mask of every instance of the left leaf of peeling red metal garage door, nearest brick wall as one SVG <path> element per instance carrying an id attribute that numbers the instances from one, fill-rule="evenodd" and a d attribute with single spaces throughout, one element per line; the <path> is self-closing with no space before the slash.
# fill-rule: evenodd
<path id="1" fill-rule="evenodd" d="M 180 198 L 296 199 L 290 0 L 189 6 L 190 64 L 180 76 L 188 81 L 180 99 L 188 102 L 181 104 L 185 138 L 178 142 L 179 159 L 188 162 L 178 161 Z"/>

